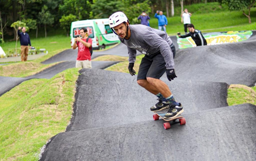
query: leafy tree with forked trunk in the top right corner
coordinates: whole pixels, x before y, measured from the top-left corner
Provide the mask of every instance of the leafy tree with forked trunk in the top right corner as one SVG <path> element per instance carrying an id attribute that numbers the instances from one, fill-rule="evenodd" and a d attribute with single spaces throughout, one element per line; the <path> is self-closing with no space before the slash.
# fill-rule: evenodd
<path id="1" fill-rule="evenodd" d="M 219 0 L 221 4 L 226 4 L 230 11 L 243 11 L 243 15 L 245 15 L 249 23 L 251 23 L 251 7 L 254 5 L 255 0 Z M 248 15 L 245 14 L 244 10 L 248 9 Z"/>

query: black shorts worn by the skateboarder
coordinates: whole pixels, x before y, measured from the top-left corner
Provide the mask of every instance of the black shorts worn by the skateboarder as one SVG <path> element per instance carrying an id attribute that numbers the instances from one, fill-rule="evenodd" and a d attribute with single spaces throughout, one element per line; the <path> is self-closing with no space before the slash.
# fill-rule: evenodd
<path id="1" fill-rule="evenodd" d="M 175 58 L 175 46 L 171 44 L 170 48 L 173 52 L 173 58 Z M 145 55 L 140 63 L 137 80 L 147 79 L 147 77 L 160 79 L 166 72 L 165 65 L 165 59 L 160 52 L 154 55 Z"/>

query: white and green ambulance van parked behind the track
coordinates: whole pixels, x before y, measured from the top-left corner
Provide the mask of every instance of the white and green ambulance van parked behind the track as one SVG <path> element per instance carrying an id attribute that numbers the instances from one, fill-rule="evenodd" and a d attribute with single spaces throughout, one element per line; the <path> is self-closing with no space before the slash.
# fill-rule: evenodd
<path id="1" fill-rule="evenodd" d="M 80 20 L 71 22 L 70 39 L 71 47 L 75 36 L 78 36 L 81 28 L 86 28 L 88 36 L 92 39 L 92 49 L 104 49 L 106 46 L 119 43 L 118 36 L 111 30 L 108 19 Z"/>

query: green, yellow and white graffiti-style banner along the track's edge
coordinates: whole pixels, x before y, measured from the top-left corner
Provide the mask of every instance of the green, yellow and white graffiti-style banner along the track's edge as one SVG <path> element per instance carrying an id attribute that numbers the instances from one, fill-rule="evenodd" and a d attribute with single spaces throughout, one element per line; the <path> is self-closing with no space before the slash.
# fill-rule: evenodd
<path id="1" fill-rule="evenodd" d="M 251 37 L 252 31 L 228 31 L 228 32 L 210 32 L 203 34 L 207 45 L 217 45 L 225 43 L 234 43 L 247 40 Z M 177 36 L 179 49 L 195 47 L 191 37 L 180 38 Z"/>

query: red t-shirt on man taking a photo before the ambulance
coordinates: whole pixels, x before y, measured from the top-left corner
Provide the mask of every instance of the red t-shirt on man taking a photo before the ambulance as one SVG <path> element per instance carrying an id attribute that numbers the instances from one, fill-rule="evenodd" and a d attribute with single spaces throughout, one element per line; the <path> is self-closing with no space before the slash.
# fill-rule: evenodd
<path id="1" fill-rule="evenodd" d="M 86 39 L 82 39 L 86 42 Z M 88 42 L 92 44 L 92 39 L 89 38 Z M 91 60 L 90 49 L 83 45 L 83 43 L 78 42 L 78 54 L 76 60 Z"/>

